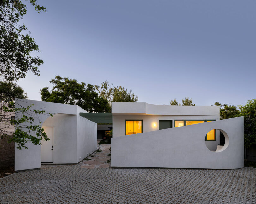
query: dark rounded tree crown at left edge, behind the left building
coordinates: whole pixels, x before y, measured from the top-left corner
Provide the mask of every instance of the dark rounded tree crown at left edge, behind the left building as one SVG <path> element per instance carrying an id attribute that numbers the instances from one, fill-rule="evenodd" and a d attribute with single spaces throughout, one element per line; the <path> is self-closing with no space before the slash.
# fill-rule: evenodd
<path id="1" fill-rule="evenodd" d="M 27 93 L 15 83 L 0 82 L 0 101 L 10 104 L 15 98 L 27 99 Z"/>

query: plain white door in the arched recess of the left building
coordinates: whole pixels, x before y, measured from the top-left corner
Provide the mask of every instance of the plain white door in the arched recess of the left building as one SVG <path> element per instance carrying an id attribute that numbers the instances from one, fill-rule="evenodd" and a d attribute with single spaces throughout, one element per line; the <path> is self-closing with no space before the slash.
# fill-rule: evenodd
<path id="1" fill-rule="evenodd" d="M 50 141 L 41 140 L 41 162 L 53 162 L 53 127 L 42 127 Z"/>

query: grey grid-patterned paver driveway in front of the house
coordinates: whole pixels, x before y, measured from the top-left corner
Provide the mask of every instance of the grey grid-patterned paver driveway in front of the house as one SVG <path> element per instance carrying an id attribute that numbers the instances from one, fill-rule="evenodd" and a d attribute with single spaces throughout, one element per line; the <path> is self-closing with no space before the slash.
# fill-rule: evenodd
<path id="1" fill-rule="evenodd" d="M 0 203 L 256 203 L 256 169 L 50 165 L 0 179 Z M 85 165 L 86 164 L 86 165 Z"/>

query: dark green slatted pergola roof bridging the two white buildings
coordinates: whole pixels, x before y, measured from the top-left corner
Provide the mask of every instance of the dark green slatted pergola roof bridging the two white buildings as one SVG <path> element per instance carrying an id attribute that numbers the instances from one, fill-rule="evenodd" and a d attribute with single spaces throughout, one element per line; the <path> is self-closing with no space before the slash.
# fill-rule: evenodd
<path id="1" fill-rule="evenodd" d="M 80 116 L 96 123 L 111 123 L 112 113 L 80 113 Z"/>

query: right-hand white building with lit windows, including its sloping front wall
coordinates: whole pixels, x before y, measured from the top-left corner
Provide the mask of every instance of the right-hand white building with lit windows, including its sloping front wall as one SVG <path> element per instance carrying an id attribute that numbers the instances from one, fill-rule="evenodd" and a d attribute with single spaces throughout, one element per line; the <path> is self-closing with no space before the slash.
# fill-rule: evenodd
<path id="1" fill-rule="evenodd" d="M 244 167 L 243 117 L 219 120 L 219 106 L 113 102 L 112 115 L 112 167 Z"/>

